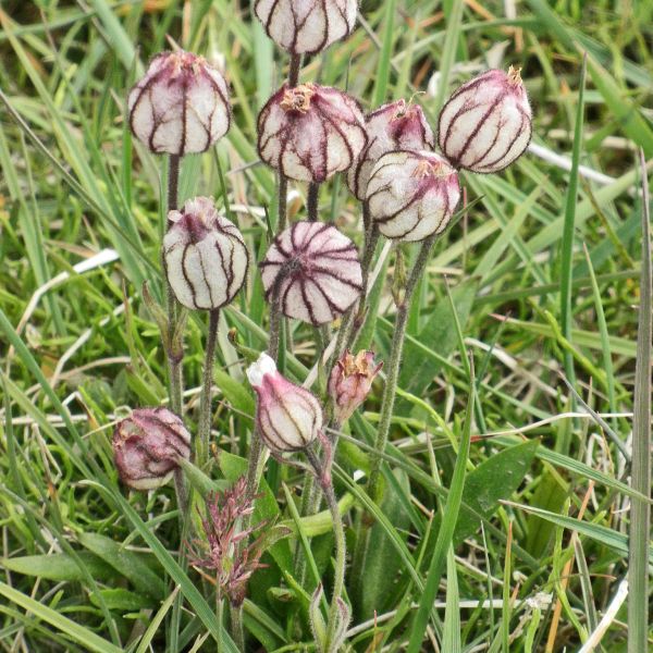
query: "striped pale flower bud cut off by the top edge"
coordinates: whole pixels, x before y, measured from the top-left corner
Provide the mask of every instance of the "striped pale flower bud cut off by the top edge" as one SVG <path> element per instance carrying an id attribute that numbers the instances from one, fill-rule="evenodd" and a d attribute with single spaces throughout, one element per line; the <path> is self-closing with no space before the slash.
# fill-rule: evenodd
<path id="1" fill-rule="evenodd" d="M 257 0 L 254 11 L 268 36 L 293 54 L 316 54 L 348 36 L 358 0 Z"/>

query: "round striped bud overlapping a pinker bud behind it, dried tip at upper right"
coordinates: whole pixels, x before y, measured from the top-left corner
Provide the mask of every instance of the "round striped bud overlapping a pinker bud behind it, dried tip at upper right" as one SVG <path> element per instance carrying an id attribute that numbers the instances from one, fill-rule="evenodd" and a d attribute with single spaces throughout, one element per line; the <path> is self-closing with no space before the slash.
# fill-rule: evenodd
<path id="1" fill-rule="evenodd" d="M 407 243 L 440 234 L 460 199 L 458 175 L 428 151 L 397 150 L 379 159 L 367 189 L 370 215 L 386 237 Z"/>

